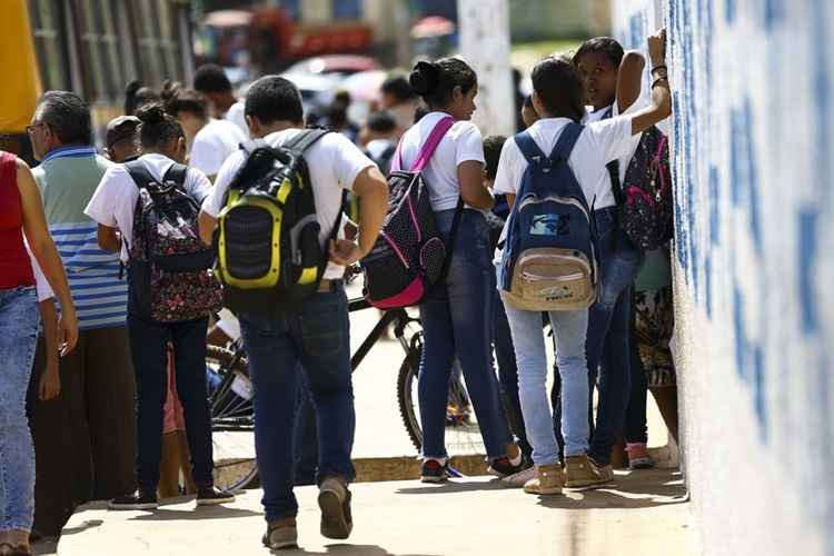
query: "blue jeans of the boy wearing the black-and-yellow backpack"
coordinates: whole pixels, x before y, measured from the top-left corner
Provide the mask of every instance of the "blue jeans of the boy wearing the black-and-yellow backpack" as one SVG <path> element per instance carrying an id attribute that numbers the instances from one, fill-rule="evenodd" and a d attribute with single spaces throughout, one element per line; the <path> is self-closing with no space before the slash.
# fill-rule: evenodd
<path id="1" fill-rule="evenodd" d="M 318 425 L 318 480 L 354 479 L 356 413 L 350 377 L 347 297 L 342 286 L 314 294 L 297 312 L 240 314 L 255 387 L 255 449 L 267 522 L 298 514 L 292 494 L 292 436 L 299 370 Z M 300 366 L 299 366 L 300 364 Z"/>

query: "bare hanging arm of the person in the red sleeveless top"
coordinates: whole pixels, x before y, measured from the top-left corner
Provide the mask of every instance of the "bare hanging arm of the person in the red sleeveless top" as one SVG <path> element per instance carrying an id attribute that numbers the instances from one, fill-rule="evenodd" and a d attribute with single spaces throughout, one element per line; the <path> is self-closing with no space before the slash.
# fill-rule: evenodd
<path id="1" fill-rule="evenodd" d="M 72 304 L 63 262 L 54 247 L 52 236 L 47 228 L 43 203 L 40 191 L 34 183 L 31 170 L 22 160 L 18 160 L 18 188 L 23 207 L 23 234 L 29 242 L 34 259 L 46 276 L 47 281 L 61 304 L 61 319 L 58 326 L 59 341 L 66 344 L 66 353 L 72 350 L 78 341 L 78 319 Z"/>

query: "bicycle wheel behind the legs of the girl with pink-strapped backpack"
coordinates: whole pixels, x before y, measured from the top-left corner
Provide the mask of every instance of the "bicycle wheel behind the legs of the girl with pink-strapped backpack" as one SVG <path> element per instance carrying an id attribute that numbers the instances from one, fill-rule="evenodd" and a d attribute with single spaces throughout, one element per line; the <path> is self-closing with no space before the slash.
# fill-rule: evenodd
<path id="1" fill-rule="evenodd" d="M 397 376 L 397 404 L 403 425 L 411 439 L 411 444 L 419 451 L 423 448 L 423 430 L 420 428 L 420 408 L 417 393 L 417 377 L 423 354 L 423 336 L 417 332 L 411 338 L 403 365 Z M 450 456 L 468 456 L 486 454 L 480 427 L 466 390 L 466 381 L 460 367 L 455 363 L 449 380 L 449 395 L 445 417 L 446 450 Z"/>

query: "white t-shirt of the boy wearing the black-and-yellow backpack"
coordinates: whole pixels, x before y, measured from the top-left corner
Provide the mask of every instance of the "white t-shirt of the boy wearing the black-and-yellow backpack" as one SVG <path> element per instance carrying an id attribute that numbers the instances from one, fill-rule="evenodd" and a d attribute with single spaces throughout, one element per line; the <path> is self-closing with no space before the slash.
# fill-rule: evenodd
<path id="1" fill-rule="evenodd" d="M 280 147 L 300 131 L 300 129 L 287 129 L 268 135 L 264 139 L 272 147 Z M 319 241 L 324 248 L 327 248 L 327 240 L 332 232 L 336 217 L 341 212 L 342 190 L 351 190 L 356 177 L 366 168 L 376 165 L 341 133 L 327 133 L 307 149 L 304 158 L 310 171 L 312 195 L 316 199 L 316 218 L 321 227 Z M 229 183 L 235 179 L 245 161 L 246 153 L 238 150 L 224 162 L 211 193 L 202 203 L 202 210 L 207 215 L 217 218 L 220 214 Z M 324 277 L 332 280 L 341 278 L 344 275 L 344 267 L 329 264 Z"/>

